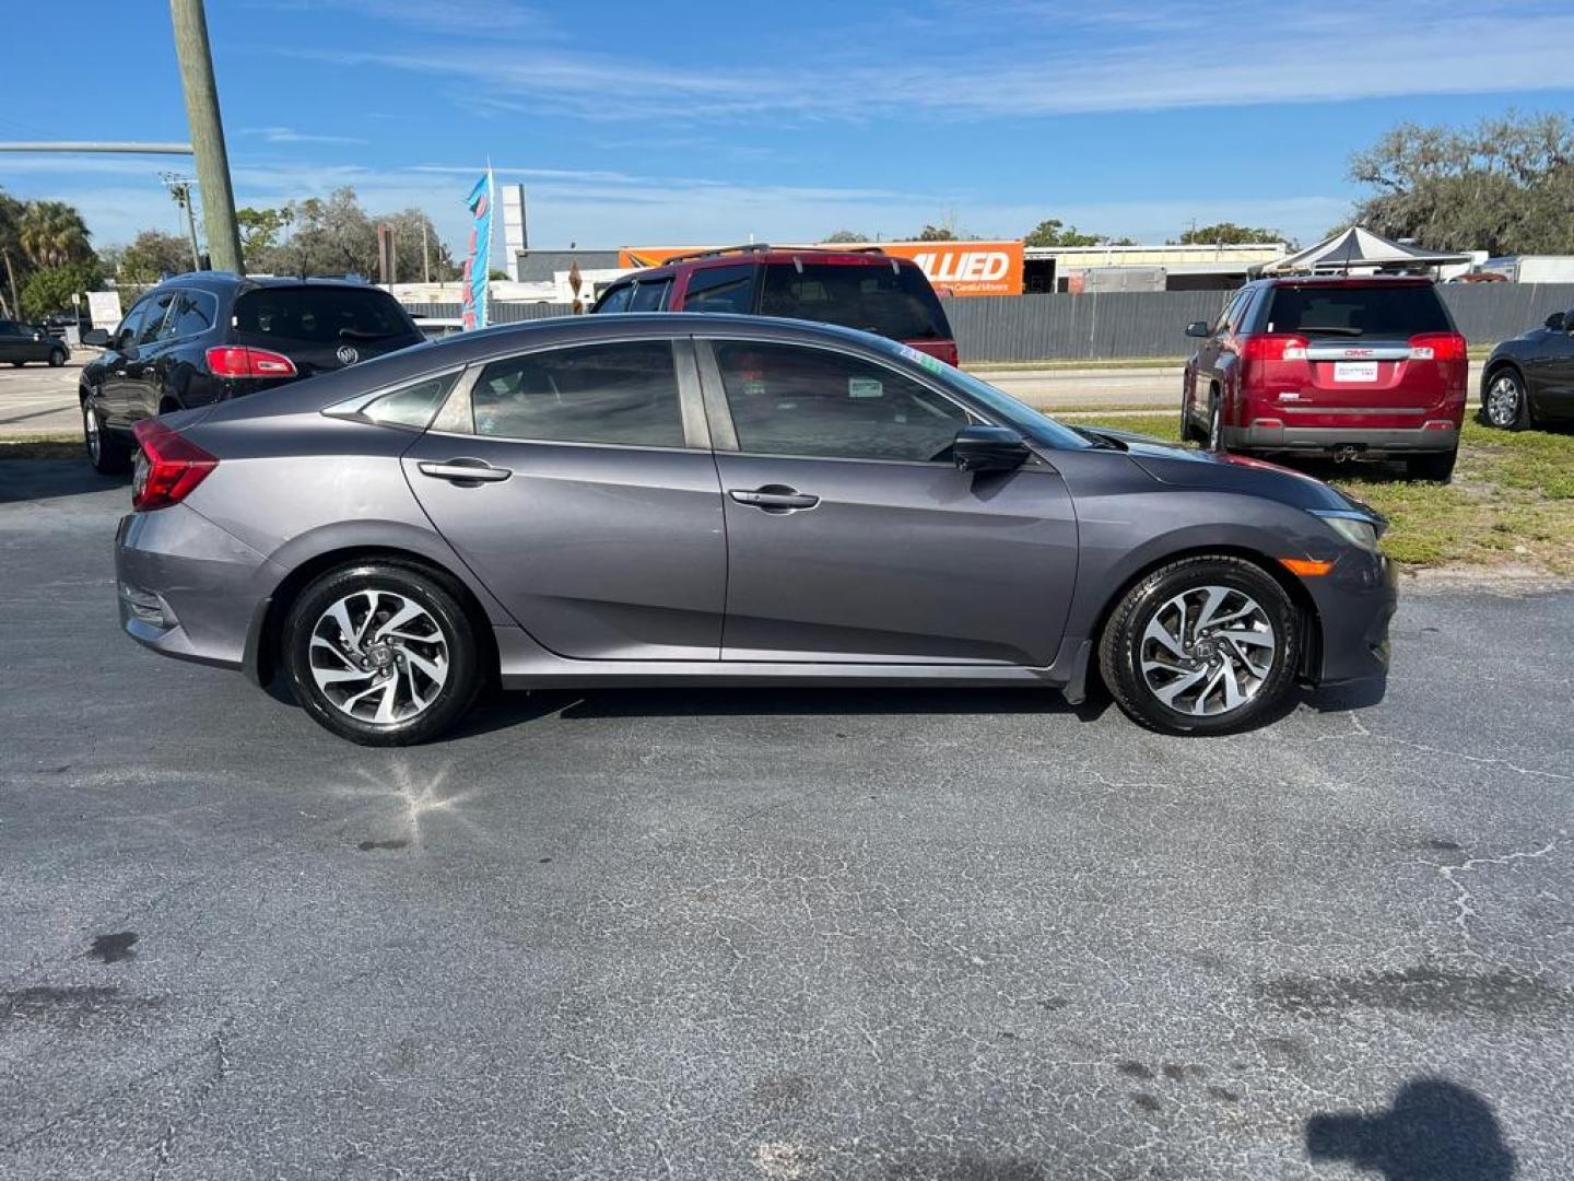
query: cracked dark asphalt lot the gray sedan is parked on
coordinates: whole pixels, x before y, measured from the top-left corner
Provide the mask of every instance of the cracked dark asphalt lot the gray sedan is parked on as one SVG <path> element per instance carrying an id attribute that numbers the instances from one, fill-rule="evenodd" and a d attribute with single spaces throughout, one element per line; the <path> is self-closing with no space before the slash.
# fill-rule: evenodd
<path id="1" fill-rule="evenodd" d="M 0 463 L 0 1176 L 1574 1175 L 1574 595 L 1231 740 L 979 691 L 337 742 Z M 1358 1172 L 1365 1167 L 1373 1172 Z"/>

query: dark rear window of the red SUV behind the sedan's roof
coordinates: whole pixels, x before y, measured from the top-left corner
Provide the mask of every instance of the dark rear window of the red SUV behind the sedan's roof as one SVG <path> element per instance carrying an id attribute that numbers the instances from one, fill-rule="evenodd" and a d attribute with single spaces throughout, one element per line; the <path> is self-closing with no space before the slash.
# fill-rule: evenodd
<path id="1" fill-rule="evenodd" d="M 760 313 L 858 328 L 892 340 L 949 340 L 951 324 L 916 266 L 792 263 L 765 268 Z"/>

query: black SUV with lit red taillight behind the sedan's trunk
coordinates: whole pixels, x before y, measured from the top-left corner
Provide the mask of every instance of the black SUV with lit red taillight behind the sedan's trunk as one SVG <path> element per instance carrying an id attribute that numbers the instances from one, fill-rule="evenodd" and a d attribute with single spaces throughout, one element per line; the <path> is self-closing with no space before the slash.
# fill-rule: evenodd
<path id="1" fill-rule="evenodd" d="M 176 276 L 132 304 L 82 370 L 82 436 L 101 472 L 126 471 L 142 419 L 206 406 L 419 345 L 416 321 L 365 283 Z"/>

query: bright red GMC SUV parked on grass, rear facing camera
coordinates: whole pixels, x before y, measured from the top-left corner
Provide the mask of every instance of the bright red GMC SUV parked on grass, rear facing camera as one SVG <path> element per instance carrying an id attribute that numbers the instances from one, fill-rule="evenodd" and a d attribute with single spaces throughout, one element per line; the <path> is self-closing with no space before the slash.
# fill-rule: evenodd
<path id="1" fill-rule="evenodd" d="M 1187 335 L 1204 340 L 1185 365 L 1187 439 L 1453 474 L 1469 361 L 1431 279 L 1259 279 Z"/>

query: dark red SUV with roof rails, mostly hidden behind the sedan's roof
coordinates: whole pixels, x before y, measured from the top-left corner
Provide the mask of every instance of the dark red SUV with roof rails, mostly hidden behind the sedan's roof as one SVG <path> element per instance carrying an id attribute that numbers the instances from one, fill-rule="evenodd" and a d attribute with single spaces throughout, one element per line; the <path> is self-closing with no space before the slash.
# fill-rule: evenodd
<path id="1" fill-rule="evenodd" d="M 592 312 L 738 312 L 875 332 L 955 365 L 957 342 L 929 279 L 878 247 L 732 246 L 623 276 Z"/>

